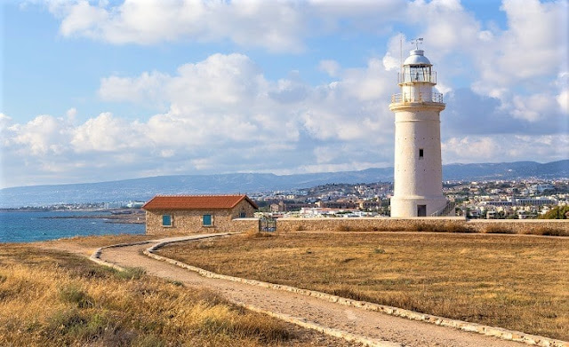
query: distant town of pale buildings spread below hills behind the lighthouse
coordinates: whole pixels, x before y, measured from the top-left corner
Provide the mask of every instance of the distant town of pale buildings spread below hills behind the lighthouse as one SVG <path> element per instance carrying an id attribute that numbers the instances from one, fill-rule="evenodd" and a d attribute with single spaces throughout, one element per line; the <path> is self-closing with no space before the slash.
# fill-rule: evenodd
<path id="1" fill-rule="evenodd" d="M 453 216 L 490 219 L 537 218 L 569 206 L 569 179 L 446 181 Z M 268 217 L 389 217 L 393 184 L 317 185 L 306 189 L 252 193 Z"/>

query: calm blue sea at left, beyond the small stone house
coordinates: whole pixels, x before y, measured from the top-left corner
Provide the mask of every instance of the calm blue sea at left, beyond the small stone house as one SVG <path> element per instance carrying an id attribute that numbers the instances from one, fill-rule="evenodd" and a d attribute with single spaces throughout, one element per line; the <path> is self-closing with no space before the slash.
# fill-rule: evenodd
<path id="1" fill-rule="evenodd" d="M 142 234 L 143 224 L 107 223 L 105 218 L 89 217 L 110 213 L 100 211 L 0 211 L 0 243 L 55 240 L 73 236 Z"/>

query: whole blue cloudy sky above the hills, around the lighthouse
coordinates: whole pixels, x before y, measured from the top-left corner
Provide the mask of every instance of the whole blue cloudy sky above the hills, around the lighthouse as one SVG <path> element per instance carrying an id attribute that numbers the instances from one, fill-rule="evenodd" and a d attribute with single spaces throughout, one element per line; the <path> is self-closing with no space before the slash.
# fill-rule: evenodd
<path id="1" fill-rule="evenodd" d="M 443 164 L 569 159 L 568 0 L 1 6 L 0 188 L 392 166 L 417 37 Z"/>

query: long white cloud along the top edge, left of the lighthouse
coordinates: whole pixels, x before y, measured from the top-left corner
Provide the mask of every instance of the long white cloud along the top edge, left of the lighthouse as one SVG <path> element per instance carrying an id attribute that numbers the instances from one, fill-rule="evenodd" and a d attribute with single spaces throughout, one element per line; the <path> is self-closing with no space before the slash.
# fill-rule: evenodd
<path id="1" fill-rule="evenodd" d="M 60 34 L 108 43 L 153 44 L 228 39 L 269 51 L 303 51 L 304 39 L 361 29 L 385 31 L 405 10 L 403 0 L 384 1 L 158 1 L 123 4 L 86 0 L 49 2 Z"/>

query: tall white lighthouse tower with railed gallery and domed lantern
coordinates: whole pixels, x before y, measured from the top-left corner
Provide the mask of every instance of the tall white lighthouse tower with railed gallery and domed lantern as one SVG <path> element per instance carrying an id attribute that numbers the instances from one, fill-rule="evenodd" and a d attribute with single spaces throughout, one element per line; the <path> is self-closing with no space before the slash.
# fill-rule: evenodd
<path id="1" fill-rule="evenodd" d="M 433 91 L 437 73 L 419 49 L 410 52 L 391 98 L 395 113 L 395 187 L 391 217 L 445 216 L 449 207 L 443 195 L 440 112 L 443 95 Z"/>

